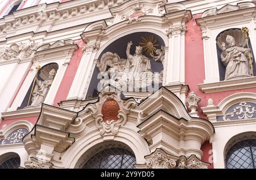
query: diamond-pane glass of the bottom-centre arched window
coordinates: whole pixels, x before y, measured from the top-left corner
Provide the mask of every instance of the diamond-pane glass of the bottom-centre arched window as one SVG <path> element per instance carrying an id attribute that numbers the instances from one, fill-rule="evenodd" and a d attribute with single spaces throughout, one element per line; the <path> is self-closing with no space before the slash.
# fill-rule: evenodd
<path id="1" fill-rule="evenodd" d="M 123 148 L 104 149 L 94 154 L 82 169 L 133 169 L 136 158 Z"/>

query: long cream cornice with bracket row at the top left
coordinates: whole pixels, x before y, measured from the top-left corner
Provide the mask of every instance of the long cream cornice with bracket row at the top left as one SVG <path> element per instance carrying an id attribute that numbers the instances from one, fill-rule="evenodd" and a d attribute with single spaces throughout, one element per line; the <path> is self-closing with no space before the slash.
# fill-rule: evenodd
<path id="1" fill-rule="evenodd" d="M 0 34 L 10 34 L 29 24 L 32 26 L 47 26 L 73 22 L 77 25 L 79 21 L 87 21 L 88 17 L 94 17 L 109 13 L 109 7 L 121 5 L 127 0 L 104 0 L 104 1 L 69 1 L 65 3 L 41 4 L 15 11 L 13 14 L 0 19 Z M 111 15 L 111 14 L 110 14 Z M 77 22 L 77 23 L 76 23 Z M 42 24 L 43 23 L 43 24 Z M 89 22 L 88 22 L 89 23 Z M 84 23 L 83 23 L 84 24 Z"/>

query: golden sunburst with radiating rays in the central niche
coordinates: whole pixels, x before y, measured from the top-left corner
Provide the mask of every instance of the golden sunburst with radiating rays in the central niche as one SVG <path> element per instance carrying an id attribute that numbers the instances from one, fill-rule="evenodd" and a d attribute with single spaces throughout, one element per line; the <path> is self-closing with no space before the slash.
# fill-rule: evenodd
<path id="1" fill-rule="evenodd" d="M 142 42 L 139 45 L 143 48 L 142 51 L 146 53 L 147 56 L 154 55 L 156 47 L 159 45 L 158 40 L 154 38 L 154 36 L 142 36 Z"/>

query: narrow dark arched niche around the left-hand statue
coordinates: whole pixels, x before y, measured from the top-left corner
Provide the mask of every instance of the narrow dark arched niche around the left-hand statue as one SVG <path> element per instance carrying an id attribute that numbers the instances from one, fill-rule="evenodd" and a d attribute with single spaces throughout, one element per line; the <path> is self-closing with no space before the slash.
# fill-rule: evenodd
<path id="1" fill-rule="evenodd" d="M 22 104 L 17 108 L 17 110 L 23 109 L 25 107 L 29 107 L 31 106 L 32 102 L 33 102 L 33 95 L 39 91 L 39 85 L 36 85 L 36 81 L 40 81 L 41 82 L 41 86 L 44 86 L 43 83 L 49 80 L 49 76 L 51 76 L 52 74 L 52 81 L 56 76 L 57 70 L 59 69 L 59 65 L 55 62 L 46 64 L 44 66 L 42 66 L 38 73 L 36 74 L 35 77 L 35 81 L 31 82 L 30 88 L 27 91 L 26 96 L 24 97 Z M 51 82 L 52 83 L 52 82 Z M 47 88 L 49 89 L 51 87 L 51 83 L 48 83 Z M 46 90 L 46 94 L 47 95 L 48 91 Z M 46 96 L 44 97 L 46 98 Z"/>

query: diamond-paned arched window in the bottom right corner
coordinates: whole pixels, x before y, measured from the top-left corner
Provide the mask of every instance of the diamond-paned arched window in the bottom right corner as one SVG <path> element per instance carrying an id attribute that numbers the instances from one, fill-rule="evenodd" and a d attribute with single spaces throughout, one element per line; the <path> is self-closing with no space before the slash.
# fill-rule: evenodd
<path id="1" fill-rule="evenodd" d="M 237 137 L 226 153 L 226 168 L 256 169 L 256 133 Z"/>

